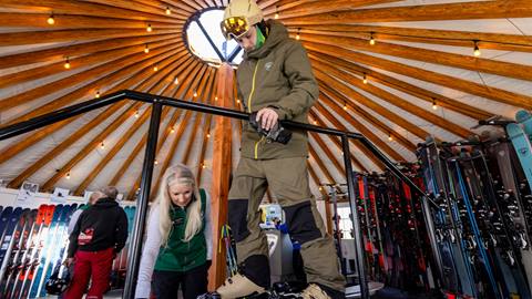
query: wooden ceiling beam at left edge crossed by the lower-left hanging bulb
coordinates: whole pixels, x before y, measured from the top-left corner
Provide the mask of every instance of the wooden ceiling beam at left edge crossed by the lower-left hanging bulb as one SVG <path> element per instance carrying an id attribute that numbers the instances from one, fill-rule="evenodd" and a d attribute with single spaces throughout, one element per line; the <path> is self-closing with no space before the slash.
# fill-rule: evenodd
<path id="1" fill-rule="evenodd" d="M 150 44 L 150 49 L 153 51 L 160 47 L 164 45 L 172 45 L 175 47 L 175 42 L 172 42 L 170 40 L 162 41 L 162 42 L 155 42 Z M 94 52 L 89 55 L 84 55 L 81 58 L 72 58 L 69 59 L 71 65 L 75 65 L 76 69 L 83 69 L 88 68 L 93 64 L 100 64 L 105 61 L 113 61 L 120 58 L 124 58 L 131 54 L 140 53 L 143 52 L 145 49 L 144 45 L 131 45 L 127 48 L 122 48 L 122 49 L 115 49 L 115 50 L 109 50 L 109 51 L 100 51 L 100 52 Z M 61 62 L 55 62 L 51 64 L 47 64 L 43 66 L 38 66 L 38 68 L 31 68 L 21 72 L 17 72 L 13 74 L 7 74 L 3 76 L 0 76 L 0 89 L 9 86 L 9 85 L 14 85 L 14 84 L 20 84 L 27 81 L 31 80 L 37 80 L 41 78 L 45 78 L 49 75 L 54 75 L 58 72 L 64 71 L 63 69 L 64 61 Z"/>

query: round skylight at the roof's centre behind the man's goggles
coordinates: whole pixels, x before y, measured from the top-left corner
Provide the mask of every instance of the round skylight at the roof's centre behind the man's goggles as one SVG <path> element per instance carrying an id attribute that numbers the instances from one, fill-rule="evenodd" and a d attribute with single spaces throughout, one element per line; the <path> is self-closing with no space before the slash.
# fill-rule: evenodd
<path id="1" fill-rule="evenodd" d="M 223 18 L 224 11 L 218 9 L 204 11 L 198 18 L 192 17 L 186 27 L 188 49 L 206 62 L 238 64 L 243 51 L 234 40 L 226 41 L 222 35 L 219 23 Z"/>

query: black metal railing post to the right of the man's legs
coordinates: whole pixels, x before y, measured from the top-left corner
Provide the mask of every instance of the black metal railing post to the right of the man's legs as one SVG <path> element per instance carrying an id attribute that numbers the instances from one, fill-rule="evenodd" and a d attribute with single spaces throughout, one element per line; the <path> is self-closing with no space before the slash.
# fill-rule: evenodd
<path id="1" fill-rule="evenodd" d="M 355 252 L 357 254 L 358 279 L 360 281 L 360 298 L 369 299 L 368 280 L 366 279 L 366 269 L 364 268 L 364 243 L 360 220 L 358 219 L 358 204 L 355 197 L 355 182 L 352 179 L 352 167 L 349 151 L 349 138 L 341 136 L 341 146 L 344 150 L 344 164 L 346 165 L 347 192 L 349 194 L 349 206 L 352 216 L 352 233 L 355 237 Z"/>

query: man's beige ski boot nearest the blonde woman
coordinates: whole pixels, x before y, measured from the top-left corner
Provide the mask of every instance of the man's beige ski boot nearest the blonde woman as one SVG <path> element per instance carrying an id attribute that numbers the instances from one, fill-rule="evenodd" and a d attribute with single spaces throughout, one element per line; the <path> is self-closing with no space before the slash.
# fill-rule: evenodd
<path id="1" fill-rule="evenodd" d="M 255 285 L 247 277 L 236 274 L 227 278 L 215 292 L 207 292 L 197 297 L 197 299 L 268 299 L 268 292 L 257 285 Z"/>

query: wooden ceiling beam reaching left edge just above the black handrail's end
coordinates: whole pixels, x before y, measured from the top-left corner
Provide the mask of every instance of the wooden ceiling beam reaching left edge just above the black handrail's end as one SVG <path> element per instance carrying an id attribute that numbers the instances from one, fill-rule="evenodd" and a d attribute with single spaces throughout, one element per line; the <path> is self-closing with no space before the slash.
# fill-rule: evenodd
<path id="1" fill-rule="evenodd" d="M 90 81 L 91 79 L 101 76 L 102 74 L 105 74 L 105 73 L 117 72 L 119 74 L 126 75 L 124 70 L 126 70 L 127 66 L 135 65 L 135 64 L 145 65 L 147 63 L 150 63 L 151 65 L 154 65 L 161 62 L 162 59 L 172 58 L 172 55 L 176 54 L 177 52 L 178 52 L 177 50 L 172 50 L 171 48 L 168 49 L 168 47 L 164 47 L 163 49 L 154 50 L 150 56 L 146 56 L 144 53 L 142 54 L 137 53 L 137 54 L 131 54 L 124 58 L 119 58 L 117 60 L 111 63 L 96 65 L 83 72 L 72 74 L 71 76 L 66 76 L 66 78 L 47 83 L 44 85 L 34 87 L 32 90 L 27 90 L 21 93 L 14 94 L 12 96 L 2 99 L 0 100 L 0 111 L 9 110 L 20 104 L 28 104 L 31 101 L 35 101 L 40 99 L 43 94 L 50 94 L 61 89 L 81 84 L 83 82 Z M 62 71 L 64 71 L 64 69 Z M 131 73 L 129 75 L 131 75 Z M 103 83 L 101 79 L 96 80 L 95 82 Z M 86 83 L 85 85 L 98 86 L 94 83 L 92 85 L 91 83 Z M 50 106 L 49 104 L 47 105 Z M 29 115 L 32 115 L 32 114 L 27 114 L 24 115 L 24 117 L 28 117 Z"/>

